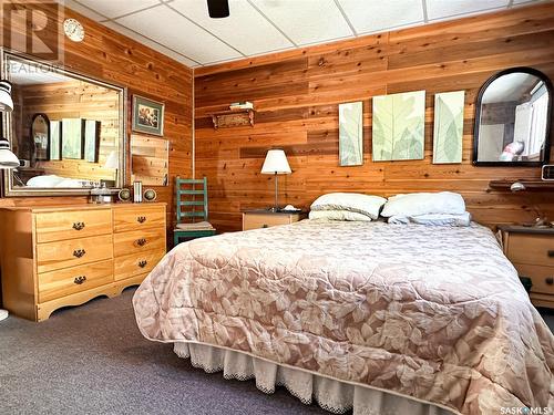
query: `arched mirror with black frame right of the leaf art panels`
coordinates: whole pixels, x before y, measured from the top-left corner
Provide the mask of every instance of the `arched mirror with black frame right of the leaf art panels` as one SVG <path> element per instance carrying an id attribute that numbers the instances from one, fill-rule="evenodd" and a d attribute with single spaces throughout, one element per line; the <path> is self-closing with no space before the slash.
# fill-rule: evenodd
<path id="1" fill-rule="evenodd" d="M 541 166 L 550 159 L 552 83 L 531 68 L 512 68 L 481 87 L 475 105 L 475 166 Z"/>

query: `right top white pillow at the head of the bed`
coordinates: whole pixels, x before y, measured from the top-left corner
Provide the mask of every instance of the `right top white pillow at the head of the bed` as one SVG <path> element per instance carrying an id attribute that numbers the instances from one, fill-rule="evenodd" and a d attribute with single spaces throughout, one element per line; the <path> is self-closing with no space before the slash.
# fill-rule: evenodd
<path id="1" fill-rule="evenodd" d="M 465 212 L 463 197 L 456 193 L 412 193 L 392 196 L 387 200 L 381 215 L 420 216 L 430 214 L 462 215 Z"/>

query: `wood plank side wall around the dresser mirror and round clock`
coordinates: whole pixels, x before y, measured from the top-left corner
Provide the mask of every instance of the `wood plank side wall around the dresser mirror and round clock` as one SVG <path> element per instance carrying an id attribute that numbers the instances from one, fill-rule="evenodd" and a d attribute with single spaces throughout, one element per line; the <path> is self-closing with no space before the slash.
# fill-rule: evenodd
<path id="1" fill-rule="evenodd" d="M 7 3 L 8 1 L 3 1 Z M 80 43 L 65 39 L 62 45 L 64 65 L 69 70 L 127 87 L 127 148 L 131 135 L 131 98 L 133 94 L 150 97 L 165 103 L 165 138 L 170 141 L 170 186 L 155 187 L 158 201 L 167 203 L 168 227 L 174 222 L 174 177 L 192 175 L 192 70 L 144 44 L 135 42 L 115 31 L 107 29 L 70 9 L 61 8 L 57 13 L 50 2 L 17 1 L 12 2 L 24 9 L 32 8 L 45 13 L 49 19 L 58 20 L 58 30 L 63 32 L 65 18 L 78 19 L 85 29 L 85 38 Z M 22 27 L 7 21 L 4 13 L 2 27 L 12 24 L 19 33 L 25 33 Z M 52 40 L 47 40 L 47 44 Z M 1 44 L 9 46 L 8 44 Z M 13 48 L 13 45 L 12 45 Z M 129 153 L 127 153 L 129 154 Z M 125 173 L 130 180 L 130 169 Z M 52 205 L 82 204 L 85 197 L 10 197 L 1 198 L 0 206 L 14 205 Z"/>

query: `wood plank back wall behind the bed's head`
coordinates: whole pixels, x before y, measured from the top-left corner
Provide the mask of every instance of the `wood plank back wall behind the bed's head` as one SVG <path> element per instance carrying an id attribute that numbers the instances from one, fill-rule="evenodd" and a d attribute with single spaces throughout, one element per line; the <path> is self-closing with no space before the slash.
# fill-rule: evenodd
<path id="1" fill-rule="evenodd" d="M 511 66 L 554 79 L 554 3 L 423 28 L 368 35 L 195 70 L 196 177 L 207 176 L 211 220 L 240 228 L 240 209 L 273 204 L 273 177 L 259 173 L 266 151 L 281 147 L 294 173 L 281 176 L 281 204 L 308 207 L 324 193 L 461 193 L 489 226 L 554 219 L 554 194 L 488 191 L 491 179 L 538 178 L 537 168 L 473 167 L 474 101 L 480 86 Z M 373 95 L 427 91 L 425 158 L 371 162 Z M 463 163 L 433 165 L 433 96 L 465 90 Z M 254 127 L 215 131 L 207 114 L 252 101 Z M 338 166 L 338 104 L 363 100 L 365 165 Z"/>

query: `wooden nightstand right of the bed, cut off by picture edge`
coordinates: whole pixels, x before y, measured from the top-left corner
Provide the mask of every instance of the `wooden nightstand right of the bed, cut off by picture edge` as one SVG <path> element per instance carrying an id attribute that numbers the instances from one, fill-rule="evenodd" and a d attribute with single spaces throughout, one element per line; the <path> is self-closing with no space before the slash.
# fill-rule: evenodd
<path id="1" fill-rule="evenodd" d="M 505 256 L 520 278 L 531 279 L 533 304 L 554 309 L 554 228 L 500 226 L 499 229 Z"/>

